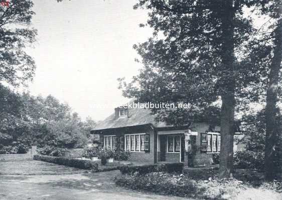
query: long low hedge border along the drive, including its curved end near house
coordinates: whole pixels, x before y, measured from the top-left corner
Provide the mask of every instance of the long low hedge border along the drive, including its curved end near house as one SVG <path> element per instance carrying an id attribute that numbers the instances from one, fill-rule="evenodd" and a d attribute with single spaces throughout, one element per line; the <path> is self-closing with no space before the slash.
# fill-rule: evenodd
<path id="1" fill-rule="evenodd" d="M 56 157 L 48 155 L 34 155 L 35 160 L 51 162 L 55 164 L 76 167 L 80 169 L 89 169 L 92 172 L 116 170 L 118 167 L 123 166 L 123 161 L 114 161 L 113 163 L 101 164 L 101 161 L 92 161 L 86 159 L 76 159 L 69 157 Z"/>

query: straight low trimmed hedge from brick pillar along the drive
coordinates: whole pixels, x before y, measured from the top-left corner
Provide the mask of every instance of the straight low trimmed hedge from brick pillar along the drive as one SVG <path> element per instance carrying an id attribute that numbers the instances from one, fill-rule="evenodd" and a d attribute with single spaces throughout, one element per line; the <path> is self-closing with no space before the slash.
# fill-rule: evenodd
<path id="1" fill-rule="evenodd" d="M 98 171 L 98 163 L 91 160 L 71 159 L 68 157 L 55 157 L 48 155 L 34 155 L 33 159 L 51 162 L 60 165 L 76 167 L 80 169 L 92 169 Z"/>

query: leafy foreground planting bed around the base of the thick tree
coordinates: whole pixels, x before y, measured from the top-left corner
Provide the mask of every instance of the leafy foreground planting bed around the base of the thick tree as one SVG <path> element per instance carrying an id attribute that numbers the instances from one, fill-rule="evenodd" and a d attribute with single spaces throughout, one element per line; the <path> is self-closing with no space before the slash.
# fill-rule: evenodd
<path id="1" fill-rule="evenodd" d="M 117 185 L 165 195 L 200 199 L 241 199 L 241 195 L 247 191 L 262 193 L 267 191 L 274 196 L 279 196 L 279 193 L 282 192 L 281 181 L 267 182 L 264 180 L 263 173 L 254 170 L 236 170 L 235 178 L 230 179 L 219 178 L 218 168 L 191 170 L 189 168 L 184 173 L 164 171 L 132 173 L 128 171 L 128 173 L 115 177 Z"/>

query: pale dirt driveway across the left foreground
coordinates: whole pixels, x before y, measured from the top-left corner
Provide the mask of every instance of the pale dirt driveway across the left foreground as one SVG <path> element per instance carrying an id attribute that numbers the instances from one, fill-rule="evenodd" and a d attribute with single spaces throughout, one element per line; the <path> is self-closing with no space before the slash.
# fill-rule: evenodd
<path id="1" fill-rule="evenodd" d="M 184 199 L 118 187 L 112 181 L 118 174 L 117 170 L 88 173 L 42 161 L 0 162 L 0 199 Z"/>

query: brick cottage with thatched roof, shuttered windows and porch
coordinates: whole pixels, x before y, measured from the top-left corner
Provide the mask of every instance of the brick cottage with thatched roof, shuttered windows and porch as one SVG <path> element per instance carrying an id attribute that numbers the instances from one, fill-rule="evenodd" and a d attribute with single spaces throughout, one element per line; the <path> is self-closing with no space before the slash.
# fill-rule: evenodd
<path id="1" fill-rule="evenodd" d="M 91 133 L 100 135 L 102 147 L 130 151 L 130 161 L 212 164 L 213 154 L 220 152 L 219 126 L 198 121 L 174 127 L 155 117 L 150 109 L 119 106 Z"/>

